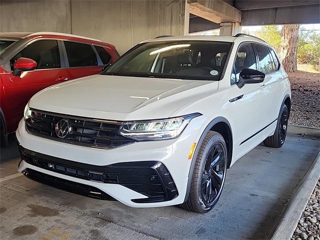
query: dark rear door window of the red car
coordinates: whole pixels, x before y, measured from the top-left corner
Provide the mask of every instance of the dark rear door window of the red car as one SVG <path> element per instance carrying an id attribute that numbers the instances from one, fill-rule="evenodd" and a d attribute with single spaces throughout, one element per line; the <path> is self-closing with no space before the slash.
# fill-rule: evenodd
<path id="1" fill-rule="evenodd" d="M 98 64 L 91 45 L 79 42 L 64 41 L 69 66 L 95 66 Z"/>

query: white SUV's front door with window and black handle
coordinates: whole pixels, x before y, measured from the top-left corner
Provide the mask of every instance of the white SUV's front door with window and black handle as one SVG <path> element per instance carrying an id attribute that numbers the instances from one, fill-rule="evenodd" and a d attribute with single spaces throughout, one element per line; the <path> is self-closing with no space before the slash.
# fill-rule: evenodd
<path id="1" fill-rule="evenodd" d="M 264 140 L 263 127 L 266 124 L 266 100 L 264 82 L 245 84 L 239 88 L 236 83 L 244 68 L 257 69 L 256 57 L 251 43 L 239 46 L 231 74 L 229 99 L 232 114 L 233 159 L 238 159 Z"/>

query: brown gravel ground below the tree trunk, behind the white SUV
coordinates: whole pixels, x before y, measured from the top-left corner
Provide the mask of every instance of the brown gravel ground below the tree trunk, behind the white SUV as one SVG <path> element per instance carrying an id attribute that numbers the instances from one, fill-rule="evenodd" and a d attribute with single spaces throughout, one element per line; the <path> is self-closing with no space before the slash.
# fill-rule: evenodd
<path id="1" fill-rule="evenodd" d="M 320 73 L 289 72 L 291 112 L 289 123 L 320 127 Z"/>

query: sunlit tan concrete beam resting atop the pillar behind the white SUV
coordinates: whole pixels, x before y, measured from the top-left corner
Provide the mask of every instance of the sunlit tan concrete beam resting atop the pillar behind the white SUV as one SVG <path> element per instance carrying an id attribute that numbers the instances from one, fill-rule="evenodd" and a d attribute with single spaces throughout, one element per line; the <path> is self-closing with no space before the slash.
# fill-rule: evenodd
<path id="1" fill-rule="evenodd" d="M 223 0 L 188 0 L 190 13 L 216 23 L 240 22 L 241 11 Z"/>

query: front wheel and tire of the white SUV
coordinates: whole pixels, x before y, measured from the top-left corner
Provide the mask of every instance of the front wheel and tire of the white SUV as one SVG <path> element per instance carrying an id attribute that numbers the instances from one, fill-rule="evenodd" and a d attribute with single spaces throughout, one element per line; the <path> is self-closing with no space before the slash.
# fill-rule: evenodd
<path id="1" fill-rule="evenodd" d="M 197 213 L 210 211 L 218 201 L 226 173 L 227 151 L 220 133 L 209 131 L 195 159 L 187 200 L 182 208 Z"/>

